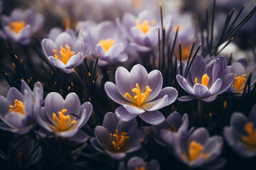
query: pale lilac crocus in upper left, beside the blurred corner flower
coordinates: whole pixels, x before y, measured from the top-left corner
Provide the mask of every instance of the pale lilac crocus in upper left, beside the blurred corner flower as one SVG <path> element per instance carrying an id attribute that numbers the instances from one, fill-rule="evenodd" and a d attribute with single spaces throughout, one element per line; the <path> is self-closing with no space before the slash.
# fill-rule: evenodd
<path id="1" fill-rule="evenodd" d="M 55 28 L 55 33 L 59 30 Z M 50 38 L 45 38 L 41 42 L 43 52 L 51 64 L 65 73 L 73 72 L 73 68 L 82 63 L 82 57 L 87 55 L 87 42 L 82 38 L 76 38 L 73 30 L 66 30 L 57 37 L 50 34 Z"/>

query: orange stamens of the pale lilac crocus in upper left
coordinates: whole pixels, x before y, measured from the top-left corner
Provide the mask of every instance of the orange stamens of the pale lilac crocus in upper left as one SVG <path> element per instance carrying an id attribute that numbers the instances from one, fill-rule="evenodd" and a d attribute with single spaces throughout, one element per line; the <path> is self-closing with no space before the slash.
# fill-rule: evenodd
<path id="1" fill-rule="evenodd" d="M 67 44 L 65 45 L 65 48 L 63 46 L 60 46 L 60 55 L 58 55 L 58 52 L 55 49 L 53 50 L 53 52 L 54 57 L 63 62 L 64 64 L 67 64 L 68 60 L 70 60 L 70 57 L 75 55 L 75 52 L 70 51 L 70 46 Z"/>

